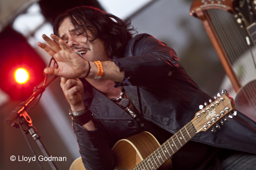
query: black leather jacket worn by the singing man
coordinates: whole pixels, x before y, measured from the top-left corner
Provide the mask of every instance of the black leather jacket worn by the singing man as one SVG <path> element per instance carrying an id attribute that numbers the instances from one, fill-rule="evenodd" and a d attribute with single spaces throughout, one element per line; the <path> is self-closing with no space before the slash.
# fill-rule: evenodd
<path id="1" fill-rule="evenodd" d="M 198 106 L 210 98 L 187 75 L 174 50 L 148 34 L 131 39 L 124 57 L 114 59 L 125 71 L 124 82 L 132 85 L 125 86 L 125 91 L 134 107 L 143 118 L 171 133 L 192 120 Z M 111 147 L 140 132 L 140 124 L 104 94 L 84 86 L 83 100 L 90 105 L 96 130 L 87 131 L 73 122 L 83 163 L 87 170 L 114 169 Z M 216 133 L 201 132 L 191 140 L 256 153 L 255 127 L 255 122 L 239 113 Z"/>

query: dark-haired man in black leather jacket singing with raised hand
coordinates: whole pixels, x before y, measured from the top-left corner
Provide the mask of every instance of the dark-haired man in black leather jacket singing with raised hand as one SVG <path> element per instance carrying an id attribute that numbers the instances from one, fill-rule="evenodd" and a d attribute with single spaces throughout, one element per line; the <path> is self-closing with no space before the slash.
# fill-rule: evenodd
<path id="1" fill-rule="evenodd" d="M 77 7 L 55 20 L 57 44 L 46 35 L 49 46 L 38 43 L 58 64 L 44 72 L 61 77 L 87 170 L 113 170 L 113 145 L 137 133 L 148 131 L 164 143 L 210 99 L 172 48 L 133 31 L 112 14 Z M 172 156 L 173 169 L 255 169 L 255 127 L 238 112 L 217 133 L 188 141 Z"/>

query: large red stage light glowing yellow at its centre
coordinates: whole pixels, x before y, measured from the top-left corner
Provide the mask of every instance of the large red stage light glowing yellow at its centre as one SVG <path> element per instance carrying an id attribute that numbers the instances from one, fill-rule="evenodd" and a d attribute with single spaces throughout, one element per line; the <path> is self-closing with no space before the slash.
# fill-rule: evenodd
<path id="1" fill-rule="evenodd" d="M 46 65 L 26 39 L 11 28 L 0 33 L 0 47 L 0 88 L 12 100 L 24 101 L 33 94 L 33 88 L 44 81 Z M 15 76 L 19 68 L 29 73 L 27 80 L 21 81 Z"/>

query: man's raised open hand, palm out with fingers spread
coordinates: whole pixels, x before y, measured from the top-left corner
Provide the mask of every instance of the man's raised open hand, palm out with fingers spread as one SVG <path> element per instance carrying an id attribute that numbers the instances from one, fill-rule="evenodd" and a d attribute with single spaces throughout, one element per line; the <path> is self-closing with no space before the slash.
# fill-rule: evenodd
<path id="1" fill-rule="evenodd" d="M 45 34 L 42 37 L 49 46 L 41 42 L 38 42 L 38 46 L 52 56 L 59 66 L 58 69 L 46 68 L 44 73 L 72 79 L 86 76 L 89 71 L 88 61 L 76 54 L 68 44 L 56 35 L 51 34 L 51 38 L 59 45 Z"/>

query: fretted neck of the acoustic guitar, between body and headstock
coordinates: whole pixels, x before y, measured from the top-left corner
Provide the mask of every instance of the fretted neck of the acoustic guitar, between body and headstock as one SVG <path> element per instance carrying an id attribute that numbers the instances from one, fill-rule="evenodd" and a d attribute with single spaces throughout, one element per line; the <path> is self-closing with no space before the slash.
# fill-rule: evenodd
<path id="1" fill-rule="evenodd" d="M 195 135 L 196 132 L 194 127 L 192 123 L 189 122 L 172 137 L 170 137 L 165 143 L 159 146 L 159 148 L 152 152 L 147 158 L 136 165 L 133 170 L 158 169 Z"/>

